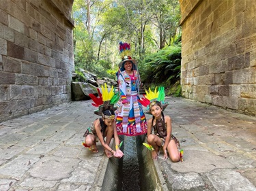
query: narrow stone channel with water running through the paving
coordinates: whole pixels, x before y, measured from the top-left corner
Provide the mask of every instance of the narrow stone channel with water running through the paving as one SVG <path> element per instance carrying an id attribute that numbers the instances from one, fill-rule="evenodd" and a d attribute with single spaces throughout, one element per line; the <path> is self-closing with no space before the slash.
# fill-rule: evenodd
<path id="1" fill-rule="evenodd" d="M 103 191 L 166 190 L 160 169 L 156 169 L 158 163 L 152 160 L 150 151 L 142 144 L 145 136 L 122 136 L 121 139 L 124 141 L 121 147 L 124 157 L 109 159 L 102 185 L 98 187 Z"/>

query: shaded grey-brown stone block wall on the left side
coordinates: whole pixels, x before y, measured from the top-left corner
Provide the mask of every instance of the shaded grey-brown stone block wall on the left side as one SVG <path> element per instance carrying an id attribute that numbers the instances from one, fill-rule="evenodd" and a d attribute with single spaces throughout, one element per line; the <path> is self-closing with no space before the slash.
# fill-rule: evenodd
<path id="1" fill-rule="evenodd" d="M 0 122 L 71 99 L 73 0 L 0 0 Z"/>

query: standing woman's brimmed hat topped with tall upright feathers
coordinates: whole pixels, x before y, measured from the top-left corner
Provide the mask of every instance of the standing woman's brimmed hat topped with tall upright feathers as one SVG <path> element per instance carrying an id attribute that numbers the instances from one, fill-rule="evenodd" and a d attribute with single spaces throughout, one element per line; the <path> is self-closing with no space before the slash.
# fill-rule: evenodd
<path id="1" fill-rule="evenodd" d="M 134 64 L 134 67 L 136 67 L 136 60 L 132 58 L 132 51 L 130 50 L 130 44 L 123 43 L 122 41 L 119 42 L 119 55 L 122 59 L 122 61 L 119 63 L 119 67 L 124 67 L 123 63 L 126 61 L 131 61 Z"/>

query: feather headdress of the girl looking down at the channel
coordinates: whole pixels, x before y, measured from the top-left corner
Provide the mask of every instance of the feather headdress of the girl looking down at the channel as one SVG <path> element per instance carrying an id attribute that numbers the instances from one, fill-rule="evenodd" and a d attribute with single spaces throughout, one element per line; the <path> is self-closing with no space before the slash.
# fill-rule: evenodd
<path id="1" fill-rule="evenodd" d="M 117 92 L 115 94 L 115 90 L 113 86 L 111 87 L 111 90 L 108 91 L 108 88 L 106 87 L 106 84 L 104 86 L 101 86 L 102 92 L 100 92 L 100 89 L 97 88 L 98 91 L 98 97 L 96 97 L 94 94 L 89 94 L 89 97 L 91 97 L 92 101 L 94 103 L 91 103 L 91 105 L 94 105 L 94 107 L 98 107 L 98 110 L 94 111 L 94 114 L 97 114 L 98 116 L 103 115 L 103 111 L 112 109 L 115 111 L 117 108 L 114 107 L 115 103 L 119 100 L 120 94 Z M 106 118 L 112 116 L 104 116 Z"/>

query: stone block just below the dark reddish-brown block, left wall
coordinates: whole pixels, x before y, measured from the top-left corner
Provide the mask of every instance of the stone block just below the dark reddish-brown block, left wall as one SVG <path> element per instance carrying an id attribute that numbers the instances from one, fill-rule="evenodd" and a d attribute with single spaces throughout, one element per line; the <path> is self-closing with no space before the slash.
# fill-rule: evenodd
<path id="1" fill-rule="evenodd" d="M 3 56 L 3 71 L 11 73 L 20 73 L 21 62 L 11 57 Z"/>

